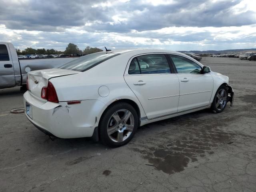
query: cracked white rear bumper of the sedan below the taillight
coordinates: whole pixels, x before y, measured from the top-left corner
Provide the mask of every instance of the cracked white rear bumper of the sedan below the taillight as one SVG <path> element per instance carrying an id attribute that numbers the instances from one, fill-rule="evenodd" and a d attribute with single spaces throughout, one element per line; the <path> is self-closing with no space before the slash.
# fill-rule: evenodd
<path id="1" fill-rule="evenodd" d="M 27 91 L 24 107 L 28 120 L 42 132 L 58 138 L 80 138 L 93 135 L 104 104 L 98 100 L 84 100 L 75 105 L 46 102 Z"/>

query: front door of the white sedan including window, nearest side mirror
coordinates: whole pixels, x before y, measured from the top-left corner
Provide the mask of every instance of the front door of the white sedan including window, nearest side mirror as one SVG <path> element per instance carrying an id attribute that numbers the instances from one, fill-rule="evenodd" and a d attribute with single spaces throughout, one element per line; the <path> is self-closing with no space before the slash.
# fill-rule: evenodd
<path id="1" fill-rule="evenodd" d="M 169 56 L 180 81 L 178 112 L 209 105 L 213 90 L 212 75 L 202 74 L 202 67 L 184 56 Z"/>

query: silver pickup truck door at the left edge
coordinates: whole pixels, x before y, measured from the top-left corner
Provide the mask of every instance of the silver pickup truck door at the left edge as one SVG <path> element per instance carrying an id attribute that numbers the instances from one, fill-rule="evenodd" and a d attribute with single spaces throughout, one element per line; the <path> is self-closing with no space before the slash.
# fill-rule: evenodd
<path id="1" fill-rule="evenodd" d="M 0 44 L 0 87 L 14 86 L 14 67 L 7 43 Z"/>

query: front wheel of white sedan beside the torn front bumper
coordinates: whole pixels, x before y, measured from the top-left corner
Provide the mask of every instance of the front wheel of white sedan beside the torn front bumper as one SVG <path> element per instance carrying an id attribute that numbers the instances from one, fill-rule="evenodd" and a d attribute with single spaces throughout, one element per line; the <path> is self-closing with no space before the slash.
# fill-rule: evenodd
<path id="1" fill-rule="evenodd" d="M 214 99 L 212 101 L 212 106 L 211 109 L 215 113 L 220 113 L 222 112 L 226 105 L 227 105 L 227 100 L 228 100 L 228 89 L 226 86 L 222 85 L 218 88 Z"/>

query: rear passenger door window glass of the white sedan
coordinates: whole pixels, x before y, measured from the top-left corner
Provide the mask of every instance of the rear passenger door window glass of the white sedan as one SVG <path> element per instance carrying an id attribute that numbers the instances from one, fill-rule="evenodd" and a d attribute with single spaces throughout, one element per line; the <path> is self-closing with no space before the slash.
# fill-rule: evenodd
<path id="1" fill-rule="evenodd" d="M 171 73 L 164 54 L 148 54 L 134 58 L 129 66 L 129 74 Z"/>

